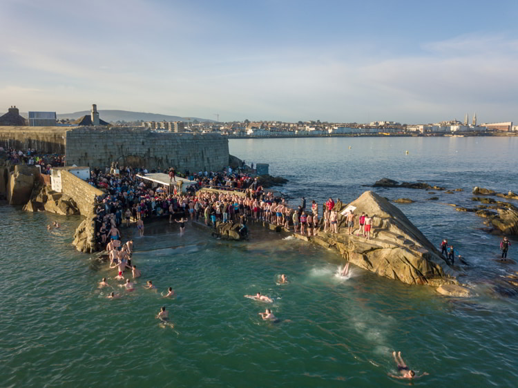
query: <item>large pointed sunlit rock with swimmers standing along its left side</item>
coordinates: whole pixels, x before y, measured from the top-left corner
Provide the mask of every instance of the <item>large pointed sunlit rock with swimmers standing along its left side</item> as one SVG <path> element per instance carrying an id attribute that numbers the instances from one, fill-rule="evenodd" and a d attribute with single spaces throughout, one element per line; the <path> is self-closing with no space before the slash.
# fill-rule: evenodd
<path id="1" fill-rule="evenodd" d="M 457 271 L 448 266 L 435 246 L 399 208 L 371 191 L 363 193 L 351 205 L 356 206 L 356 214 L 365 212 L 373 217 L 371 240 L 348 235 L 345 228 L 338 234 L 320 231 L 309 240 L 334 247 L 345 260 L 390 279 L 407 284 L 457 284 Z"/>

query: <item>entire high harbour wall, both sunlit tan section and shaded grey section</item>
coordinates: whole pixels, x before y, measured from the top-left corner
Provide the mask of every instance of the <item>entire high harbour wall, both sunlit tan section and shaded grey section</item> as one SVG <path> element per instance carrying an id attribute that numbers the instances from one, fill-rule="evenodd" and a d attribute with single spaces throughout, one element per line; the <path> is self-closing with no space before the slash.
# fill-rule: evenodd
<path id="1" fill-rule="evenodd" d="M 144 128 L 0 126 L 0 146 L 65 154 L 66 166 L 175 167 L 219 171 L 229 164 L 229 140 L 210 133 L 157 133 Z"/>

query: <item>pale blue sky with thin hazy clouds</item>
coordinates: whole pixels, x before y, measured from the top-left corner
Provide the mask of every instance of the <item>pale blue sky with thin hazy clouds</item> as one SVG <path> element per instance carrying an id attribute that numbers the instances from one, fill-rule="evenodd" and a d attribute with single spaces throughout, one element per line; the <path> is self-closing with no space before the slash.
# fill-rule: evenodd
<path id="1" fill-rule="evenodd" d="M 0 5 L 0 112 L 518 122 L 516 0 Z"/>

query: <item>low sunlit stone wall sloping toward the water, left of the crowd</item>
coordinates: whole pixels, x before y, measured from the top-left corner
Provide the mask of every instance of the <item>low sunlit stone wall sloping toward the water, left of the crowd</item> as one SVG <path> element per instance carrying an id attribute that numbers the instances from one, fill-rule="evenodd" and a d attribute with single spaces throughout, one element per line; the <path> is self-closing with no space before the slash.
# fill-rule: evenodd
<path id="1" fill-rule="evenodd" d="M 95 197 L 102 195 L 102 191 L 65 170 L 61 170 L 61 188 L 62 193 L 71 197 L 77 204 L 81 215 L 94 215 Z"/>

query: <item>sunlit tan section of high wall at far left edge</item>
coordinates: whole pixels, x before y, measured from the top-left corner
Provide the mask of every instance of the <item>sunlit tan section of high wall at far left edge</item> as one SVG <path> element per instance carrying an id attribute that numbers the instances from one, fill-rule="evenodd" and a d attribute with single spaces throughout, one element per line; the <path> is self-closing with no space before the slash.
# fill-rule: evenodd
<path id="1" fill-rule="evenodd" d="M 39 153 L 65 153 L 66 132 L 62 126 L 0 126 L 0 146 L 26 150 L 36 148 Z"/>

